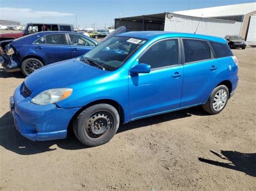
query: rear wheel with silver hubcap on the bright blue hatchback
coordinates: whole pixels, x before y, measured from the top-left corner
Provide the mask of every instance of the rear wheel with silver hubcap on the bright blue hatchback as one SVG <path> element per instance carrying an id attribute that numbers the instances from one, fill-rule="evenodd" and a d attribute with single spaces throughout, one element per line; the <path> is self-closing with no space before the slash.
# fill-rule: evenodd
<path id="1" fill-rule="evenodd" d="M 212 115 L 219 114 L 226 107 L 229 95 L 228 88 L 224 85 L 214 88 L 203 109 Z"/>

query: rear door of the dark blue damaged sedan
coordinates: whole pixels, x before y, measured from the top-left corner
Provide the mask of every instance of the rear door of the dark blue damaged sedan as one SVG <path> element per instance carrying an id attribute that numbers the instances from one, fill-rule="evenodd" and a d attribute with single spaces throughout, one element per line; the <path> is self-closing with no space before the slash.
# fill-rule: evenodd
<path id="1" fill-rule="evenodd" d="M 44 60 L 45 65 L 71 58 L 65 33 L 46 34 L 37 39 L 32 46 L 33 51 Z"/>

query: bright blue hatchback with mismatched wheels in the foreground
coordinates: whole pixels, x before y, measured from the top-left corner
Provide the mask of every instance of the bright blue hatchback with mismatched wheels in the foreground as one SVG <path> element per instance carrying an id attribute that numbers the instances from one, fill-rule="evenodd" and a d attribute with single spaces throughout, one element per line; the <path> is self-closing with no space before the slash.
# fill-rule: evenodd
<path id="1" fill-rule="evenodd" d="M 221 112 L 238 84 L 238 61 L 223 38 L 127 32 L 90 52 L 40 68 L 10 98 L 17 130 L 31 140 L 109 142 L 120 123 L 203 105 Z"/>

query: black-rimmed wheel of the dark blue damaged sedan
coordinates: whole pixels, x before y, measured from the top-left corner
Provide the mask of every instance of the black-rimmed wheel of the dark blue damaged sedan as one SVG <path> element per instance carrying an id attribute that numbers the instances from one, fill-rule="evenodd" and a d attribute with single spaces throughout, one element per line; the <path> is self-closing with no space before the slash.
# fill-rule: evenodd
<path id="1" fill-rule="evenodd" d="M 32 72 L 35 72 L 35 70 L 43 66 L 44 64 L 40 60 L 36 58 L 29 58 L 22 62 L 21 70 L 25 76 L 28 76 L 29 74 L 31 74 Z"/>

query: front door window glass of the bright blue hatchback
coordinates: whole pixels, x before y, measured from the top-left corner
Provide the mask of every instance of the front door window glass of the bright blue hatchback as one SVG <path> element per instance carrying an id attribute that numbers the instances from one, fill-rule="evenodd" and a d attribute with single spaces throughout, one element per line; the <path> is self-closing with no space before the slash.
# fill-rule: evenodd
<path id="1" fill-rule="evenodd" d="M 151 68 L 178 64 L 178 39 L 163 40 L 151 46 L 140 57 L 139 63 L 147 63 Z"/>

